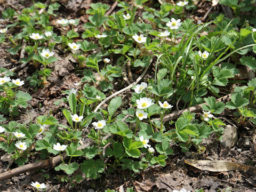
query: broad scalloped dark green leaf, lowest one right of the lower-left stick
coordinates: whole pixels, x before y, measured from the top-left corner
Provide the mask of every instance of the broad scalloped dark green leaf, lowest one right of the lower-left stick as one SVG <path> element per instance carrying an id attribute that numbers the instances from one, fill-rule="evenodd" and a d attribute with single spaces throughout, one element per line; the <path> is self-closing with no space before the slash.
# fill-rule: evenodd
<path id="1" fill-rule="evenodd" d="M 100 176 L 99 173 L 102 173 L 105 170 L 105 164 L 100 159 L 95 161 L 93 159 L 88 159 L 81 163 L 81 170 L 85 173 L 85 177 L 96 179 Z"/>

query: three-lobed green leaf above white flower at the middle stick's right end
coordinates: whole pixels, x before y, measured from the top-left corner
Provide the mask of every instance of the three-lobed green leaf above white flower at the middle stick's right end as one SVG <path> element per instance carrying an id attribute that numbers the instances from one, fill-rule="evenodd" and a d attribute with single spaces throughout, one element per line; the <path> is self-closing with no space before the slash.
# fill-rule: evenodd
<path id="1" fill-rule="evenodd" d="M 223 102 L 216 102 L 214 97 L 204 98 L 208 106 L 203 105 L 202 109 L 205 111 L 212 111 L 213 114 L 221 114 L 225 109 L 225 104 Z"/>

